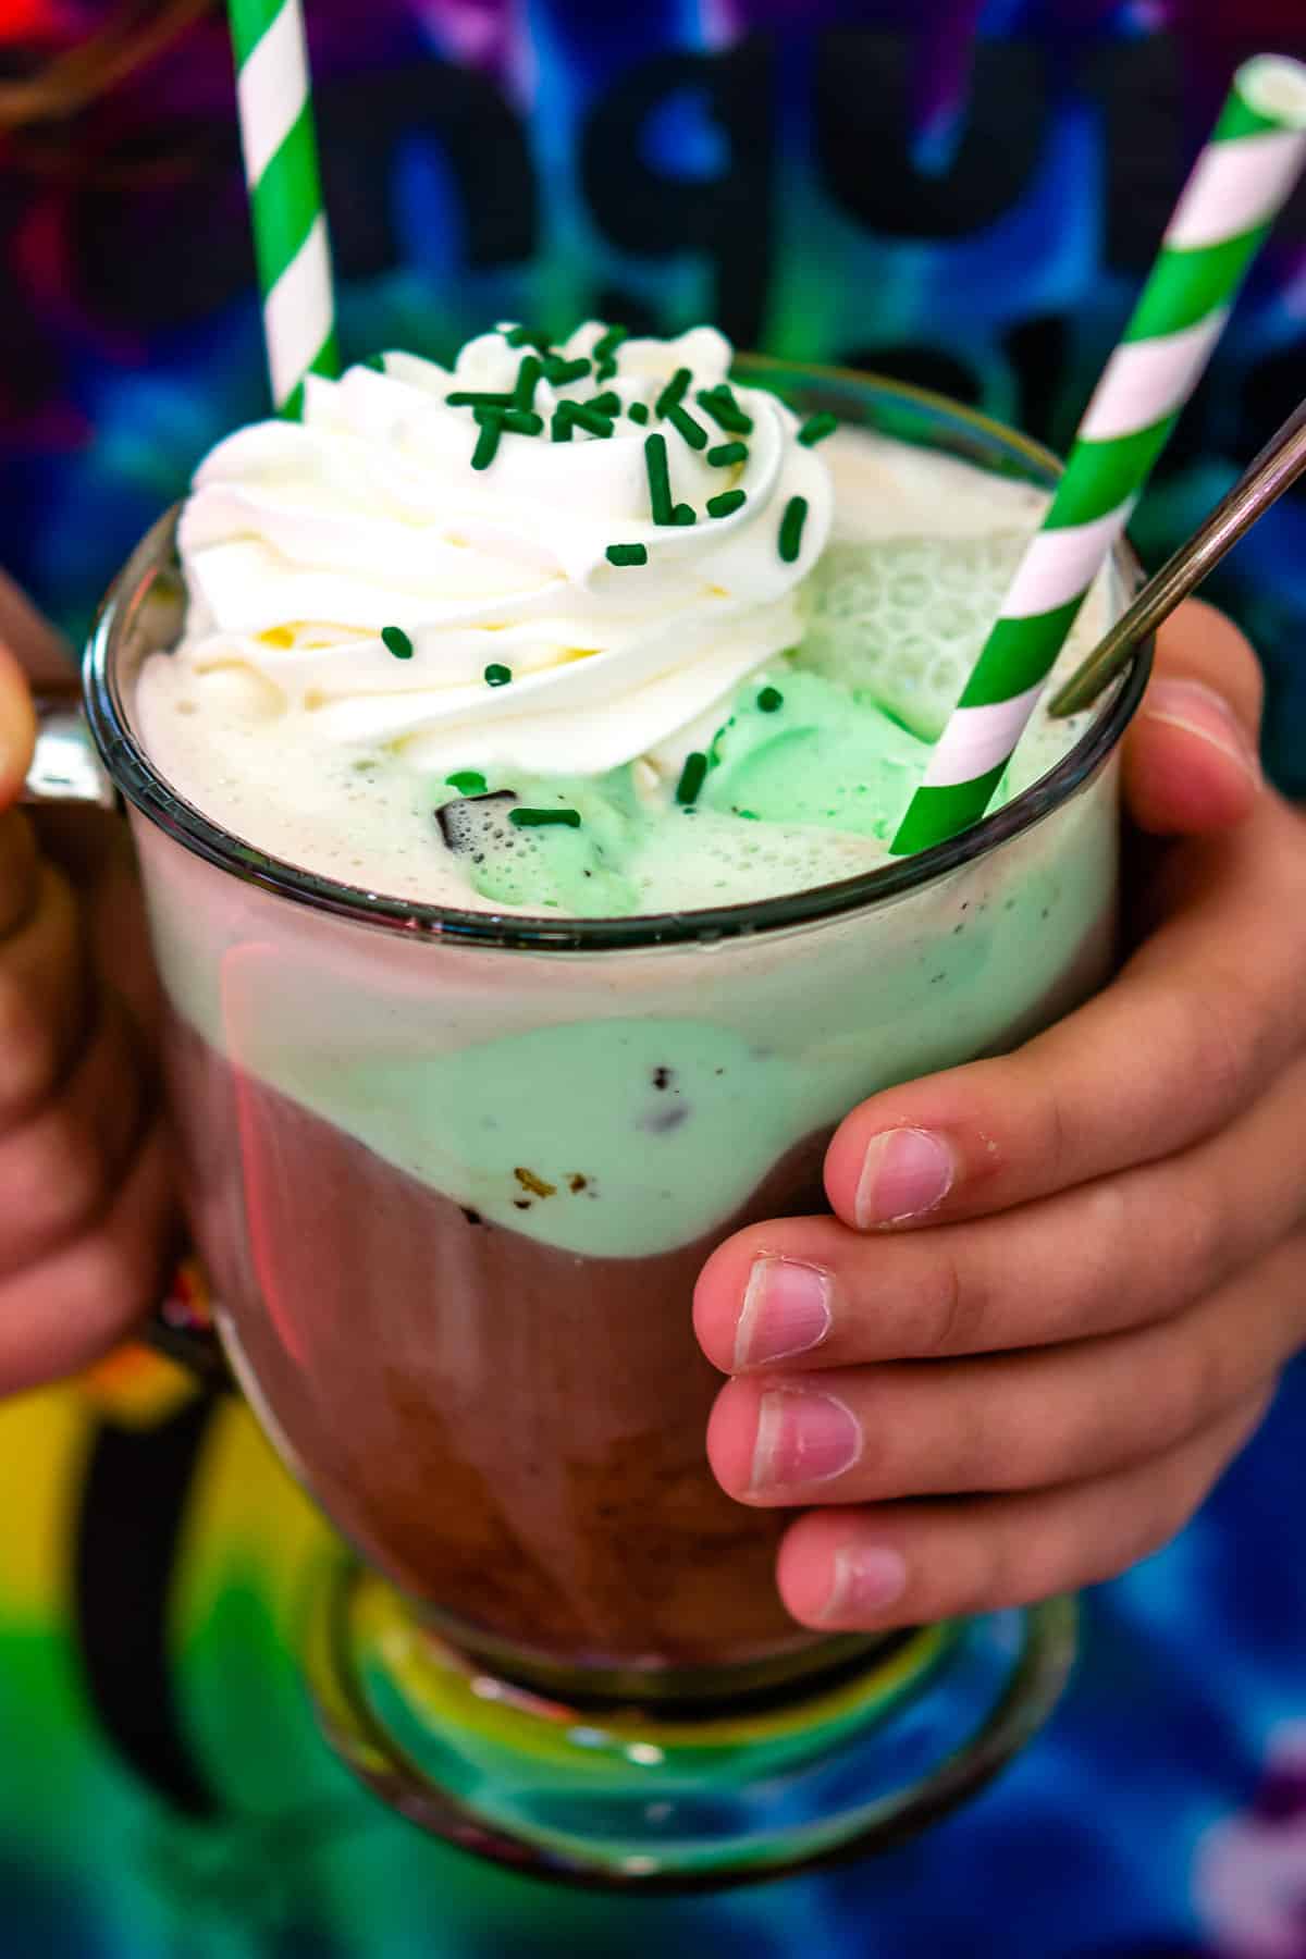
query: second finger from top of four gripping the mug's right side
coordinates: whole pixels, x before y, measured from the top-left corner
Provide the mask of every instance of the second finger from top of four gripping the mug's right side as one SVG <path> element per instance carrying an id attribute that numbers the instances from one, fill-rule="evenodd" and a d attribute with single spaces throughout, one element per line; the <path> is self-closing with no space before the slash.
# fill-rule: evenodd
<path id="1" fill-rule="evenodd" d="M 1306 1060 L 1208 1142 L 997 1218 L 869 1236 L 836 1218 L 748 1226 L 699 1275 L 699 1344 L 723 1373 L 803 1371 L 1165 1318 L 1306 1217 L 1302 1107 Z"/>

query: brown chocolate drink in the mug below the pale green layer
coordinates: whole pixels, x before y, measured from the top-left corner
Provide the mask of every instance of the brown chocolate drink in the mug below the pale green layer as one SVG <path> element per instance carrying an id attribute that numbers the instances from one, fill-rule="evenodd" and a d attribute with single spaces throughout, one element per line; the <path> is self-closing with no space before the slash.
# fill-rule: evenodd
<path id="1" fill-rule="evenodd" d="M 372 1563 L 462 1644 L 544 1661 L 679 1669 L 813 1644 L 775 1593 L 787 1518 L 707 1467 L 721 1377 L 691 1295 L 728 1230 L 822 1207 L 824 1138 L 711 1238 L 580 1258 L 403 1175 L 176 1015 L 166 1046 L 227 1342 Z"/>

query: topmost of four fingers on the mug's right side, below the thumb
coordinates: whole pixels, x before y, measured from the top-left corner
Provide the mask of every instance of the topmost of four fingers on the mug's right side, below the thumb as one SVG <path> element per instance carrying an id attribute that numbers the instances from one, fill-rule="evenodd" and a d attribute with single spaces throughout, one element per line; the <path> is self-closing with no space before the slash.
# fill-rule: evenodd
<path id="1" fill-rule="evenodd" d="M 1306 827 L 1265 805 L 1077 1013 L 856 1109 L 826 1156 L 838 1217 L 867 1230 L 1001 1211 L 1169 1156 L 1247 1107 L 1306 1038 Z"/>

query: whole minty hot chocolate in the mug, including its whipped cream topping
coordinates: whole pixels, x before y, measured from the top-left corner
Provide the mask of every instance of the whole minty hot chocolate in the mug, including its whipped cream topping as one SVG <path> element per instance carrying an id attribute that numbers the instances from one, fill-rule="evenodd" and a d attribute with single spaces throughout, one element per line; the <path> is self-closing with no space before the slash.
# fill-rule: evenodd
<path id="1" fill-rule="evenodd" d="M 503 415 L 556 421 L 583 333 L 511 351 L 540 372 Z M 738 1224 L 820 1209 L 858 1099 L 1100 981 L 1112 784 L 805 923 L 783 893 L 885 862 L 1040 494 L 728 388 L 715 335 L 627 343 L 615 406 L 556 441 L 501 421 L 478 468 L 448 398 L 507 394 L 507 343 L 311 378 L 303 427 L 200 472 L 186 633 L 133 699 L 153 764 L 237 838 L 217 870 L 137 823 L 172 1105 L 237 1371 L 358 1550 L 509 1673 L 691 1693 L 826 1651 L 775 1597 L 783 1518 L 707 1469 L 695 1275 Z M 685 433 L 713 406 L 748 429 L 711 449 L 742 456 Z M 693 521 L 632 515 L 650 431 Z M 744 500 L 705 496 L 709 468 Z M 1004 793 L 1077 733 L 1036 723 Z M 742 932 L 705 909 L 746 901 L 771 909 Z"/>

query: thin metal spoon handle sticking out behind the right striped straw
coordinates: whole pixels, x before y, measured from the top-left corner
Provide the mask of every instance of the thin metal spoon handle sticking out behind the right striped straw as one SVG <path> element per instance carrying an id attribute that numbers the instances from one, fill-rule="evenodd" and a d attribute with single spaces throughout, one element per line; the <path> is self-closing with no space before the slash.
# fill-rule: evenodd
<path id="1" fill-rule="evenodd" d="M 1283 427 L 1271 435 L 1265 449 L 1247 464 L 1210 517 L 1167 558 L 1142 588 L 1128 611 L 1110 633 L 1096 643 L 1083 666 L 1077 666 L 1063 688 L 1051 697 L 1048 713 L 1073 715 L 1098 697 L 1108 680 L 1126 666 L 1134 648 L 1175 611 L 1181 599 L 1194 592 L 1202 578 L 1232 550 L 1239 537 L 1263 517 L 1271 503 L 1306 470 L 1306 402 Z"/>

